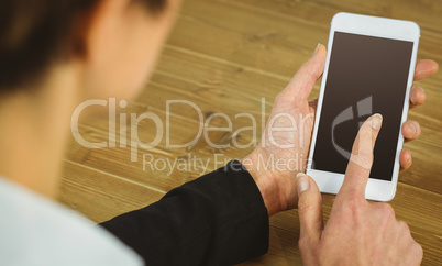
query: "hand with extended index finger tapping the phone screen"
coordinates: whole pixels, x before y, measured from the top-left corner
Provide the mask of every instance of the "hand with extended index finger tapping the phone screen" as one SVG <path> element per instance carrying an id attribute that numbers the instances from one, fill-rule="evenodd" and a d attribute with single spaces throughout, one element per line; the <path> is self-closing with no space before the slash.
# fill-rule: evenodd
<path id="1" fill-rule="evenodd" d="M 318 186 L 298 174 L 302 265 L 420 265 L 422 247 L 408 225 L 396 220 L 388 203 L 365 200 L 380 123 L 382 118 L 373 115 L 361 126 L 325 228 Z"/>

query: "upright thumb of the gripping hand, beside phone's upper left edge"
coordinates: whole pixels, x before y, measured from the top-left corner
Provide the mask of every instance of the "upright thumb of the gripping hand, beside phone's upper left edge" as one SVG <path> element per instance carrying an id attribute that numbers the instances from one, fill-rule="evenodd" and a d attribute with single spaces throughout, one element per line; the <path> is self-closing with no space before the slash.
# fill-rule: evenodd
<path id="1" fill-rule="evenodd" d="M 299 68 L 286 89 L 281 91 L 283 98 L 307 100 L 314 82 L 322 76 L 325 55 L 325 46 L 318 44 L 313 56 Z"/>

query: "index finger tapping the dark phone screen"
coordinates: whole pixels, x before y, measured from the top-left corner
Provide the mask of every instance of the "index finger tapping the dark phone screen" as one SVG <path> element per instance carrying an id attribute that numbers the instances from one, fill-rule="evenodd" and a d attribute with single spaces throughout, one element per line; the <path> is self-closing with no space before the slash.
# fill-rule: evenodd
<path id="1" fill-rule="evenodd" d="M 338 195 L 356 195 L 365 199 L 365 187 L 367 186 L 373 164 L 373 148 L 375 147 L 382 122 L 383 117 L 374 114 L 361 126 L 353 144 L 344 182 Z"/>

